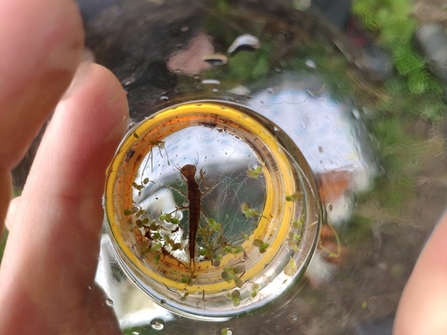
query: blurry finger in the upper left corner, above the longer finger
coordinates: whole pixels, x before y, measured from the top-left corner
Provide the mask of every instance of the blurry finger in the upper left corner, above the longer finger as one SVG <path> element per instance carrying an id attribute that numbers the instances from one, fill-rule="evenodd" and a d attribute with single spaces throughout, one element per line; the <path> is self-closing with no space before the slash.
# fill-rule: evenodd
<path id="1" fill-rule="evenodd" d="M 72 0 L 0 0 L 0 232 L 9 171 L 70 83 L 83 38 Z"/>

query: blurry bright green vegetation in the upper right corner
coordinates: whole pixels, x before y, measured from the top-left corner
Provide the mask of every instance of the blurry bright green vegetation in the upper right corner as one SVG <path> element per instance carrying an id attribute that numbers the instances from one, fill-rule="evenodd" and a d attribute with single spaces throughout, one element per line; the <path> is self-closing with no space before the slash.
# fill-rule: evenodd
<path id="1" fill-rule="evenodd" d="M 368 106 L 372 112 L 368 128 L 378 141 L 376 155 L 385 171 L 369 201 L 396 211 L 414 195 L 414 177 L 424 161 L 443 152 L 442 138 L 418 135 L 415 124 L 440 121 L 446 105 L 440 82 L 415 47 L 412 2 L 355 0 L 353 6 L 355 15 L 377 35 L 377 43 L 389 50 L 396 69 Z"/>

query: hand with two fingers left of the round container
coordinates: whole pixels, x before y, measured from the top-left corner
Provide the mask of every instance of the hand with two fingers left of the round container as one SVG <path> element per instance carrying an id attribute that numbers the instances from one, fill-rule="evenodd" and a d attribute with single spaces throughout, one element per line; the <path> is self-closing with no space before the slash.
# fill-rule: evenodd
<path id="1" fill-rule="evenodd" d="M 0 334 L 121 334 L 94 284 L 105 171 L 128 119 L 125 93 L 82 65 L 72 0 L 0 0 Z M 56 107 L 57 105 L 57 107 Z M 22 195 L 10 170 L 54 112 Z"/>

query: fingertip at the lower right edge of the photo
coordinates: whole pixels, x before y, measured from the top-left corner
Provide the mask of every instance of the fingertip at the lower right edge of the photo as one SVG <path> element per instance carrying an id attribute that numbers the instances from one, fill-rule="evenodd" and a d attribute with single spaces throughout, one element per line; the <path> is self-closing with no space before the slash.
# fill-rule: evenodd
<path id="1" fill-rule="evenodd" d="M 422 251 L 403 291 L 394 333 L 447 334 L 447 213 Z"/>

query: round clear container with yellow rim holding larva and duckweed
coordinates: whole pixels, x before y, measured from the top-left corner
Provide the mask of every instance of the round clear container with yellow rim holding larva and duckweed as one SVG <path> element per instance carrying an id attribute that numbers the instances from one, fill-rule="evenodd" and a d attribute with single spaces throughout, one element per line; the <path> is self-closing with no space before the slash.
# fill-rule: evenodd
<path id="1" fill-rule="evenodd" d="M 105 208 L 119 262 L 155 302 L 228 320 L 299 284 L 324 211 L 293 141 L 267 119 L 192 101 L 133 128 Z"/>

